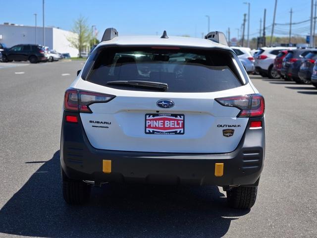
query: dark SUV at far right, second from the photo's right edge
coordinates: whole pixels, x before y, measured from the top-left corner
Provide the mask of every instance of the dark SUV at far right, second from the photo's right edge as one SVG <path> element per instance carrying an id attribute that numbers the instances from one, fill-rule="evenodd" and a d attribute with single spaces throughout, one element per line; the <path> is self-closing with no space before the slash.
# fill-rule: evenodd
<path id="1" fill-rule="evenodd" d="M 305 59 L 302 60 L 302 64 L 298 71 L 298 77 L 301 83 L 311 84 L 311 78 L 315 61 L 317 60 L 317 51 L 311 51 L 306 55 Z"/>

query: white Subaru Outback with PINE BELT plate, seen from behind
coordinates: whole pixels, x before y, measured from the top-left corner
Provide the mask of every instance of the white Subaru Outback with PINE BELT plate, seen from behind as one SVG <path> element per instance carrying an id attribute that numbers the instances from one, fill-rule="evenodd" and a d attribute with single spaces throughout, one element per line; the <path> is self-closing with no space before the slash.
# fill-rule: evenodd
<path id="1" fill-rule="evenodd" d="M 65 92 L 63 196 L 103 182 L 217 185 L 251 208 L 264 163 L 264 98 L 221 32 L 119 37 L 113 28 Z"/>

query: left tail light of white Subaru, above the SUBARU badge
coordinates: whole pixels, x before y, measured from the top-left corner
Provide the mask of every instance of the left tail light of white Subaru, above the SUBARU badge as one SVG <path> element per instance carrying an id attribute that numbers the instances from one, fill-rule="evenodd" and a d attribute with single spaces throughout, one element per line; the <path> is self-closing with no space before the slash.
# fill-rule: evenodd
<path id="1" fill-rule="evenodd" d="M 64 109 L 71 112 L 92 113 L 89 105 L 94 103 L 106 103 L 114 97 L 114 95 L 109 94 L 68 89 L 65 92 Z"/>

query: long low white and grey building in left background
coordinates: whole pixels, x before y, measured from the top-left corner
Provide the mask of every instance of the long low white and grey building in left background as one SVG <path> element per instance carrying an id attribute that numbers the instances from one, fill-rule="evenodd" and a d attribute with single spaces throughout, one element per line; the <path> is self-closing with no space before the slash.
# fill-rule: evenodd
<path id="1" fill-rule="evenodd" d="M 36 37 L 37 36 L 37 37 Z M 77 34 L 55 27 L 45 27 L 45 43 L 43 42 L 43 27 L 23 26 L 16 24 L 0 24 L 0 43 L 7 47 L 18 44 L 38 44 L 48 46 L 59 53 L 69 53 L 71 57 L 78 56 L 78 50 L 71 47 L 67 39 Z"/>

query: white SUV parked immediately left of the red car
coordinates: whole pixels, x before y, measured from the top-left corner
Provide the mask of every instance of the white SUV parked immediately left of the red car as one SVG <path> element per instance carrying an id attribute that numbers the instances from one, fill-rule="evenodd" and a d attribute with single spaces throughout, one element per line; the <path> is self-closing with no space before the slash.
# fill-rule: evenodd
<path id="1" fill-rule="evenodd" d="M 274 78 L 276 76 L 272 73 L 274 60 L 280 51 L 287 49 L 289 47 L 262 47 L 255 55 L 256 72 L 263 77 Z"/>

